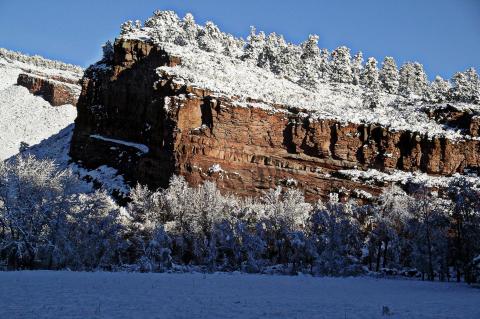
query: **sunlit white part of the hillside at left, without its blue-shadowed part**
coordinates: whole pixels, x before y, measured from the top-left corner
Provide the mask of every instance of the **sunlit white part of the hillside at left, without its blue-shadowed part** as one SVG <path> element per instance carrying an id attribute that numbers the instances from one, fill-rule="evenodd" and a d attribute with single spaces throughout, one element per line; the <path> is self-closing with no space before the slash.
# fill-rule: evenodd
<path id="1" fill-rule="evenodd" d="M 73 123 L 72 105 L 51 106 L 43 98 L 17 86 L 24 70 L 78 78 L 77 72 L 56 70 L 13 60 L 0 55 L 0 160 L 18 153 L 21 142 L 34 145 Z"/>

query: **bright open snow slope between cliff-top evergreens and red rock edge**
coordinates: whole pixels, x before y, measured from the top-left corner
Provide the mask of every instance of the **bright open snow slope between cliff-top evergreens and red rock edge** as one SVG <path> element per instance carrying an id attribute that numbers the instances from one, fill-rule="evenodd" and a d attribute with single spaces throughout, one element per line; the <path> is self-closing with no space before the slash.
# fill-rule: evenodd
<path id="1" fill-rule="evenodd" d="M 251 98 L 304 109 L 313 119 L 377 123 L 391 130 L 411 130 L 450 139 L 465 138 L 461 131 L 429 119 L 421 110 L 425 105 L 398 104 L 398 96 L 382 94 L 383 106 L 372 110 L 363 105 L 363 90 L 359 86 L 321 83 L 315 91 L 310 91 L 245 61 L 171 43 L 164 43 L 162 47 L 181 57 L 182 63 L 175 67 L 160 67 L 159 71 L 174 75 L 187 85 L 238 96 L 243 105 L 254 106 L 246 102 Z"/>

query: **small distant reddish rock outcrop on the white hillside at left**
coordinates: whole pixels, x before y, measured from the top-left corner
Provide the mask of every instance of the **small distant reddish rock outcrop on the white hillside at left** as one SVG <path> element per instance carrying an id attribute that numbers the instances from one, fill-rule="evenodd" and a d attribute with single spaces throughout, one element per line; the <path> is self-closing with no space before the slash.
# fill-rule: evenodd
<path id="1" fill-rule="evenodd" d="M 21 73 L 17 84 L 26 87 L 30 93 L 42 96 L 52 106 L 77 105 L 81 87 L 78 82 L 60 76 L 42 76 Z"/>

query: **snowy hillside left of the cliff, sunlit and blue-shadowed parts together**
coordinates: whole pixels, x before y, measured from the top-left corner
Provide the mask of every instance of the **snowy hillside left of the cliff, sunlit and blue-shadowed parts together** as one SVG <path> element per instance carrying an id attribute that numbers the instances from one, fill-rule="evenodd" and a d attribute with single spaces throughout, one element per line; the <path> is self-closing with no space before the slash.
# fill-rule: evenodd
<path id="1" fill-rule="evenodd" d="M 22 142 L 29 147 L 24 155 L 54 160 L 59 169 L 71 169 L 86 181 L 94 181 L 107 191 L 128 194 L 123 177 L 113 168 L 84 169 L 68 156 L 77 110 L 73 105 L 51 106 L 42 97 L 16 85 L 22 72 L 39 73 L 79 80 L 80 67 L 59 61 L 28 56 L 0 48 L 0 160 L 19 153 Z M 88 183 L 91 188 L 92 184 Z"/>

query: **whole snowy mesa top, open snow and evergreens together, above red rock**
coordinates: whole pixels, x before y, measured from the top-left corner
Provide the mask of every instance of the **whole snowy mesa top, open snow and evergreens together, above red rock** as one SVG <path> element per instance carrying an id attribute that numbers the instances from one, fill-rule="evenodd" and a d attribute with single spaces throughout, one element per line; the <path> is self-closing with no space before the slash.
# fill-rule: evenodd
<path id="1" fill-rule="evenodd" d="M 316 36 L 296 46 L 282 36 L 252 29 L 243 41 L 211 22 L 199 26 L 189 14 L 180 20 L 173 12 L 157 11 L 144 26 L 139 21 L 125 23 L 121 38 L 155 42 L 181 58 L 175 67 L 158 68 L 160 75 L 234 97 L 237 105 L 272 111 L 277 110 L 272 104 L 282 105 L 312 119 L 376 123 L 451 139 L 470 137 L 430 119 L 424 108 L 449 102 L 480 110 L 474 69 L 459 72 L 451 82 L 436 78 L 429 83 L 419 63 L 406 63 L 399 71 L 387 57 L 378 70 L 373 58 L 363 64 L 361 52 L 351 58 L 346 47 L 331 54 L 318 48 Z"/>

